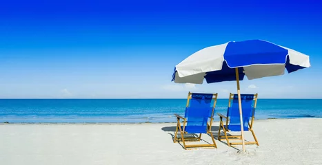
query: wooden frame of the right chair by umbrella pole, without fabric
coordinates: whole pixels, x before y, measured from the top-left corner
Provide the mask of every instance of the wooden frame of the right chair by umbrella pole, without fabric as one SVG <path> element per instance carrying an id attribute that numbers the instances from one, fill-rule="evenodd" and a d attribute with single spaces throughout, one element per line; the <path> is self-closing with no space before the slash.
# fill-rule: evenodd
<path id="1" fill-rule="evenodd" d="M 254 94 L 254 109 L 256 109 L 256 104 L 257 104 L 257 97 L 258 94 Z M 231 107 L 231 100 L 234 98 L 234 94 L 230 93 L 230 97 L 229 97 L 229 102 L 228 102 L 228 107 Z M 254 142 L 245 142 L 245 144 L 256 144 L 257 146 L 259 146 L 259 142 L 256 139 L 256 135 L 252 129 L 252 126 L 254 124 L 254 112 L 252 112 L 252 119 L 250 122 L 248 122 L 248 131 L 252 132 L 252 136 L 254 137 Z M 221 113 L 217 113 L 220 117 L 220 123 L 219 123 L 219 131 L 218 131 L 218 140 L 221 141 L 221 137 L 224 137 L 227 141 L 228 146 L 231 145 L 238 145 L 238 144 L 242 144 L 242 142 L 229 142 L 229 140 L 241 140 L 241 135 L 227 135 L 227 132 L 229 132 L 230 130 L 228 130 L 228 121 L 229 121 L 229 117 L 222 115 Z M 223 118 L 225 118 L 225 126 L 224 126 L 224 122 L 223 122 Z M 221 129 L 223 129 L 223 133 L 224 135 L 220 135 L 220 131 Z"/>

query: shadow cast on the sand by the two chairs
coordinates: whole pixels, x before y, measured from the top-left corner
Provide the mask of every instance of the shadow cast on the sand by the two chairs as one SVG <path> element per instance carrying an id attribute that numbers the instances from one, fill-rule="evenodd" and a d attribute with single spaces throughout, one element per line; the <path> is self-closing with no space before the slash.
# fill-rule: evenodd
<path id="1" fill-rule="evenodd" d="M 171 135 L 172 142 L 173 142 L 173 140 L 174 140 L 174 133 L 176 131 L 176 128 L 177 128 L 177 126 L 164 126 L 163 128 L 161 128 L 161 130 L 162 131 L 165 131 L 165 132 L 168 132 L 168 134 Z M 212 131 L 212 134 L 214 135 L 214 139 L 215 140 L 217 140 L 218 142 L 221 142 L 222 144 L 225 144 L 225 145 L 228 146 L 227 142 L 218 140 L 219 126 L 211 126 L 211 131 Z M 207 135 L 209 135 L 209 134 L 207 134 Z M 231 135 L 231 134 L 230 133 L 227 133 L 227 135 Z M 187 136 L 187 137 L 198 137 L 197 134 L 192 134 L 192 133 L 187 133 L 185 136 Z M 179 137 L 181 137 L 181 136 L 179 135 Z M 206 142 L 205 140 L 202 140 L 202 141 L 203 142 Z M 210 144 L 209 142 L 206 142 L 206 143 Z M 179 144 L 183 147 L 183 145 L 181 143 L 179 143 Z M 237 151 L 240 151 L 238 148 L 235 148 L 234 146 L 231 146 L 231 147 L 234 148 L 234 149 L 236 149 Z"/>

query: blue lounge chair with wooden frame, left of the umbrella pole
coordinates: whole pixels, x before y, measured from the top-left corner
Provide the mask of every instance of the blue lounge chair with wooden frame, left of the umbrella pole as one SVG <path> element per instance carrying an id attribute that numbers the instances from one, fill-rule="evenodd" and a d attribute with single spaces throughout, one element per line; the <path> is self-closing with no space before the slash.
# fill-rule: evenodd
<path id="1" fill-rule="evenodd" d="M 185 149 L 192 147 L 214 147 L 217 148 L 216 142 L 214 142 L 214 136 L 210 131 L 212 126 L 212 120 L 214 115 L 214 107 L 216 106 L 218 94 L 188 94 L 187 105 L 185 108 L 185 117 L 177 116 L 177 129 L 174 135 L 174 142 L 182 141 Z M 212 100 L 213 106 L 212 106 Z M 180 119 L 183 120 L 183 126 L 181 126 Z M 208 120 L 210 122 L 208 123 Z M 180 131 L 181 138 L 177 137 L 178 131 Z M 185 134 L 192 133 L 193 137 L 184 137 Z M 199 133 L 199 137 L 195 134 Z M 186 145 L 186 141 L 201 140 L 201 133 L 209 133 L 212 138 L 213 144 L 194 144 Z"/>

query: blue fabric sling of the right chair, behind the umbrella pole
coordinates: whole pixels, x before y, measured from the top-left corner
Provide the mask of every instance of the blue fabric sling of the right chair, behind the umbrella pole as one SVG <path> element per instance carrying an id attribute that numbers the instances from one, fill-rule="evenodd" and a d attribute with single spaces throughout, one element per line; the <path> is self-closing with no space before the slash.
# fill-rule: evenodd
<path id="1" fill-rule="evenodd" d="M 230 94 L 227 116 L 230 119 L 228 129 L 241 131 L 241 119 L 239 115 L 239 102 L 237 94 Z M 250 118 L 254 116 L 257 94 L 241 94 L 241 108 L 243 112 L 243 130 L 248 131 Z M 254 101 L 255 100 L 255 101 Z M 254 103 L 254 104 L 253 104 Z"/>

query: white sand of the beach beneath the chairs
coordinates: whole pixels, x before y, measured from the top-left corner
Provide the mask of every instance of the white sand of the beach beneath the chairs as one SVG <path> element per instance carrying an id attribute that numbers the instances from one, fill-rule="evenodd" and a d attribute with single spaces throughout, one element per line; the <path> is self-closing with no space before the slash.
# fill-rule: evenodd
<path id="1" fill-rule="evenodd" d="M 184 150 L 172 142 L 174 126 L 0 124 L 0 164 L 322 164 L 322 119 L 256 120 L 260 146 L 247 145 L 248 154 L 218 140 L 218 148 Z"/>

